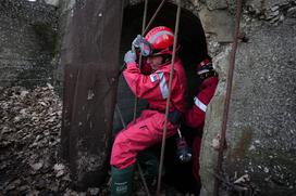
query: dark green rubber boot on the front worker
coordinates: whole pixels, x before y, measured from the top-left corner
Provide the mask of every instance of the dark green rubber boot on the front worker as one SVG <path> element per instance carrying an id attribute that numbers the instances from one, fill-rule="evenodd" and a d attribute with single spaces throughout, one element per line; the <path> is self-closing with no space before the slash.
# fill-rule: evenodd
<path id="1" fill-rule="evenodd" d="M 125 169 L 111 168 L 112 185 L 111 196 L 131 196 L 133 193 L 135 166 L 130 166 Z"/>

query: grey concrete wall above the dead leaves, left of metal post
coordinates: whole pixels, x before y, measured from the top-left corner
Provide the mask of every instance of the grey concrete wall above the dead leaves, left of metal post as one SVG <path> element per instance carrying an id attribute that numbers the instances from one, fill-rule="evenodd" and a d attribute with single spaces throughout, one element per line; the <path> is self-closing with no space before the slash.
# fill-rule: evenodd
<path id="1" fill-rule="evenodd" d="M 0 86 L 53 82 L 58 12 L 26 0 L 0 2 Z"/>

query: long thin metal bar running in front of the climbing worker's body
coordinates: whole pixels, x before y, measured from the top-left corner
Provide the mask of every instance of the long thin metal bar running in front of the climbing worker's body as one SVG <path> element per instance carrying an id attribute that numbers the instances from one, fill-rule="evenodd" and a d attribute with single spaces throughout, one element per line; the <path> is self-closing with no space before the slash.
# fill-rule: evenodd
<path id="1" fill-rule="evenodd" d="M 161 173 L 162 173 L 162 167 L 163 167 L 165 139 L 166 139 L 166 131 L 168 131 L 168 117 L 169 117 L 169 112 L 170 112 L 170 100 L 171 100 L 171 90 L 172 90 L 172 81 L 173 81 L 173 74 L 174 74 L 173 70 L 174 70 L 174 64 L 175 64 L 175 52 L 176 52 L 176 42 L 177 42 L 177 34 L 178 34 L 178 25 L 180 25 L 180 15 L 181 15 L 181 0 L 177 0 L 173 55 L 172 55 L 172 65 L 171 65 L 170 80 L 169 80 L 169 96 L 168 96 L 166 106 L 165 106 L 165 120 L 164 120 L 164 128 L 163 128 L 162 143 L 161 143 L 160 164 L 159 164 L 160 166 L 159 166 L 159 173 L 158 173 L 158 185 L 157 185 L 157 195 L 158 196 L 160 195 L 160 188 L 161 188 Z"/>

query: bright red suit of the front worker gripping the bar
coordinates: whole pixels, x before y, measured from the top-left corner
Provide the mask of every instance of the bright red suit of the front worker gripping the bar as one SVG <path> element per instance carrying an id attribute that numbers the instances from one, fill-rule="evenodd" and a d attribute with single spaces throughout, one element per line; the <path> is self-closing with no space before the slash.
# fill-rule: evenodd
<path id="1" fill-rule="evenodd" d="M 145 99 L 149 108 L 145 109 L 136 122 L 130 122 L 126 130 L 122 130 L 115 138 L 111 165 L 124 169 L 136 161 L 139 151 L 143 151 L 162 140 L 164 126 L 164 110 L 169 95 L 169 77 L 171 64 L 163 64 L 160 68 L 143 74 L 136 63 L 128 63 L 124 70 L 124 78 L 137 97 Z M 185 113 L 186 101 L 186 78 L 183 65 L 180 60 L 175 61 L 172 81 L 170 112 L 177 109 Z M 168 122 L 166 136 L 176 133 L 176 126 Z"/>

